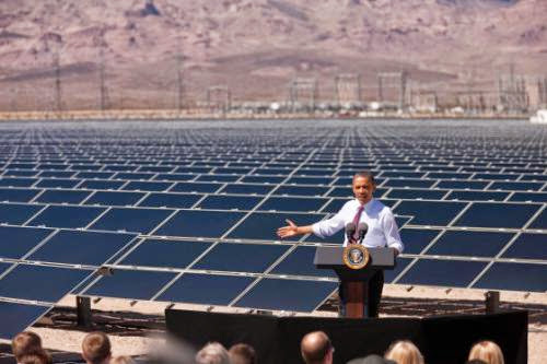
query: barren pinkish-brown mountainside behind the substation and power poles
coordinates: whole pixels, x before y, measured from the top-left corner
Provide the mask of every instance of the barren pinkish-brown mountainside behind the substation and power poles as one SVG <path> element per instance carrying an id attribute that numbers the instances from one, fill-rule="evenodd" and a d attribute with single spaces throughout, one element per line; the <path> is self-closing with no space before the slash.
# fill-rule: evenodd
<path id="1" fill-rule="evenodd" d="M 450 103 L 512 63 L 545 75 L 546 24 L 544 0 L 3 0 L 0 108 L 55 108 L 56 80 L 63 109 L 97 108 L 101 83 L 110 108 L 176 107 L 179 84 L 186 105 L 213 85 L 284 101 L 294 78 L 333 99 L 340 73 L 373 99 L 381 71 Z"/>

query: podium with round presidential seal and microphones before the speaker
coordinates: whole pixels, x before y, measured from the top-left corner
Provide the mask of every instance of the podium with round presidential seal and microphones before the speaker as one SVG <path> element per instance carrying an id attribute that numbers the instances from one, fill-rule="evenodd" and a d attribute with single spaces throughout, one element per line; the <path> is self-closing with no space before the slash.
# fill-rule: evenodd
<path id="1" fill-rule="evenodd" d="M 393 248 L 365 248 L 368 257 L 364 267 L 352 267 L 345 258 L 345 247 L 317 247 L 314 265 L 318 269 L 333 269 L 340 279 L 341 290 L 346 297 L 346 317 L 369 317 L 369 280 L 379 270 L 395 268 L 395 253 Z M 346 250 L 347 253 L 347 250 Z M 352 268 L 350 268 L 352 267 Z"/>

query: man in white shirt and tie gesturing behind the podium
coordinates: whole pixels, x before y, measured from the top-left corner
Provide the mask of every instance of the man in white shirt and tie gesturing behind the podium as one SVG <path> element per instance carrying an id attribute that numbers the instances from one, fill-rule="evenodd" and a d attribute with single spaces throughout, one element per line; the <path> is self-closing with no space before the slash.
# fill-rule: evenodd
<path id="1" fill-rule="evenodd" d="M 399 230 L 393 212 L 388 207 L 373 198 L 376 188 L 373 174 L 369 171 L 357 173 L 353 176 L 351 187 L 356 198 L 346 202 L 336 215 L 306 226 L 298 226 L 291 220 L 287 220 L 288 225 L 278 228 L 278 236 L 284 238 L 313 233 L 324 238 L 336 234 L 348 226 L 348 224 L 358 226 L 364 223 L 368 225 L 364 237 L 360 237 L 358 231 L 350 236 L 346 234 L 344 246 L 361 243 L 368 248 L 391 247 L 395 249 L 395 255 L 400 254 L 404 245 L 400 240 Z M 369 280 L 370 317 L 377 317 L 383 287 L 384 272 L 383 270 L 379 270 Z M 342 302 L 340 307 L 344 307 L 345 297 L 342 290 L 339 290 L 339 295 Z"/>

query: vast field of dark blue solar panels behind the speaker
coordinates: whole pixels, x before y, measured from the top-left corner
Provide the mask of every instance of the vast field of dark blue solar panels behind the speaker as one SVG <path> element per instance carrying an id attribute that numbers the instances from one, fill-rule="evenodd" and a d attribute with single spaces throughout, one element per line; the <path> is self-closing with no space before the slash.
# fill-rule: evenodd
<path id="1" fill-rule="evenodd" d="M 337 287 L 286 219 L 376 175 L 405 254 L 386 282 L 547 291 L 547 128 L 523 121 L 0 125 L 9 338 L 67 293 L 311 312 Z M 96 275 L 100 267 L 112 275 Z M 4 317 L 24 320 L 12 325 Z"/>

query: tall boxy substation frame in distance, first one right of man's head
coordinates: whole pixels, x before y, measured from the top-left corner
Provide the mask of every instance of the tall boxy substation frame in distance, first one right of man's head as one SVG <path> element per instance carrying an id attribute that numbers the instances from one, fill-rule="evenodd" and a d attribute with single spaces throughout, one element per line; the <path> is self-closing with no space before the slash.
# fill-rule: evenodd
<path id="1" fill-rule="evenodd" d="M 382 105 L 405 110 L 407 103 L 407 72 L 380 72 L 377 74 L 377 101 Z"/>

